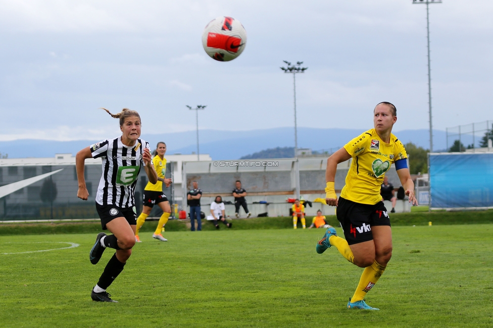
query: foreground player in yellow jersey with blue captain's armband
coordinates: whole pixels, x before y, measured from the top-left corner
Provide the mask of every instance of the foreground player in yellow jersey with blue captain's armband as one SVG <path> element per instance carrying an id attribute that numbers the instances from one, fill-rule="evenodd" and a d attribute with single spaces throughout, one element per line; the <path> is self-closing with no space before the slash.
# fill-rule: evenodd
<path id="1" fill-rule="evenodd" d="M 374 128 L 354 138 L 327 159 L 325 201 L 337 206 L 337 220 L 346 239 L 337 236 L 334 228 L 329 228 L 317 244 L 317 253 L 335 246 L 348 261 L 365 268 L 348 308 L 378 310 L 366 304 L 364 298 L 383 274 L 392 255 L 390 219 L 380 196 L 380 185 L 392 163 L 409 202 L 417 205 L 406 150 L 391 133 L 396 121 L 396 106 L 380 102 L 373 110 Z M 346 185 L 337 199 L 334 189 L 337 164 L 351 157 L 353 161 Z"/>

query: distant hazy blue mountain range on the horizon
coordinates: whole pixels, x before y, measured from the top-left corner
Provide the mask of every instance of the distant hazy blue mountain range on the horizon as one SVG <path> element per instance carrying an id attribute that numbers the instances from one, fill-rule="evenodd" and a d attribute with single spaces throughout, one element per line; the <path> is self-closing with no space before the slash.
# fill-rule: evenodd
<path id="1" fill-rule="evenodd" d="M 298 147 L 311 148 L 314 151 L 333 152 L 363 130 L 355 129 L 312 129 L 298 128 Z M 428 130 L 404 130 L 395 132 L 403 142 L 412 142 L 417 146 L 429 149 Z M 115 136 L 108 136 L 115 137 Z M 168 154 L 190 154 L 196 152 L 195 131 L 144 134 L 144 140 L 155 147 L 158 141 L 166 142 Z M 8 154 L 9 158 L 21 157 L 55 157 L 56 153 L 72 153 L 101 140 L 52 141 L 37 139 L 20 139 L 0 141 L 0 153 Z M 293 128 L 273 128 L 251 131 L 219 131 L 199 130 L 200 153 L 210 154 L 214 160 L 239 159 L 268 148 L 293 147 Z M 433 148 L 435 151 L 445 150 L 445 131 L 433 131 Z"/>

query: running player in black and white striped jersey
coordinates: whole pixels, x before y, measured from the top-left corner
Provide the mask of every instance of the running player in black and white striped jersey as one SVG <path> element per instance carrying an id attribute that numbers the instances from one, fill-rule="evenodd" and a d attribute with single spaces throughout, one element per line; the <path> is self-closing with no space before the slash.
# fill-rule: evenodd
<path id="1" fill-rule="evenodd" d="M 102 158 L 103 175 L 96 193 L 96 210 L 101 217 L 103 230 L 113 235 L 99 233 L 89 253 L 92 264 L 96 264 L 107 247 L 116 249 L 91 292 L 91 298 L 100 302 L 116 302 L 110 298 L 106 289 L 123 270 L 135 245 L 137 213 L 134 191 L 140 166 L 151 183 L 158 181 L 154 170 L 149 143 L 139 139 L 140 116 L 135 111 L 124 108 L 119 114 L 111 114 L 120 119 L 122 136 L 95 143 L 80 150 L 75 157 L 79 190 L 77 197 L 87 200 L 89 193 L 84 179 L 84 161 L 86 158 Z"/>

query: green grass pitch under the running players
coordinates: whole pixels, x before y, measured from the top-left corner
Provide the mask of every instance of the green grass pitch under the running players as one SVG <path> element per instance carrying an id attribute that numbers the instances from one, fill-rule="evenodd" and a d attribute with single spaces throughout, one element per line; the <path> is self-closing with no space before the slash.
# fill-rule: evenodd
<path id="1" fill-rule="evenodd" d="M 108 289 L 119 303 L 90 299 L 113 254 L 90 264 L 95 234 L 0 236 L 0 326 L 493 326 L 493 225 L 392 233 L 392 259 L 366 298 L 380 311 L 346 308 L 362 269 L 335 247 L 317 254 L 322 229 L 141 233 Z M 80 246 L 32 252 L 67 243 Z M 4 254 L 16 252 L 31 253 Z"/>

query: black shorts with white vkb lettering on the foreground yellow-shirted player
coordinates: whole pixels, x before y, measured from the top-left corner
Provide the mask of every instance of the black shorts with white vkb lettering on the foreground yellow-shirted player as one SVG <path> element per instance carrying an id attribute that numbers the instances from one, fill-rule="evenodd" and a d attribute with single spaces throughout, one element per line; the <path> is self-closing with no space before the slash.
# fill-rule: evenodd
<path id="1" fill-rule="evenodd" d="M 336 214 L 349 245 L 373 240 L 373 226 L 390 227 L 390 218 L 382 201 L 368 205 L 339 197 Z"/>

